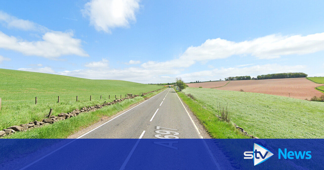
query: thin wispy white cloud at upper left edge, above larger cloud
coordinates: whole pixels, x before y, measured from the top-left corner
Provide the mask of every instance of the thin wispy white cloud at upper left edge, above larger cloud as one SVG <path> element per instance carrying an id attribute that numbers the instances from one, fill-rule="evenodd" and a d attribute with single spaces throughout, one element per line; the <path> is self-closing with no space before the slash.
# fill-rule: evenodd
<path id="1" fill-rule="evenodd" d="M 10 16 L 3 11 L 0 11 L 0 22 L 7 28 L 17 28 L 25 31 L 49 31 L 49 29 L 44 26 L 41 26 L 29 20 L 23 20 L 14 16 Z"/>

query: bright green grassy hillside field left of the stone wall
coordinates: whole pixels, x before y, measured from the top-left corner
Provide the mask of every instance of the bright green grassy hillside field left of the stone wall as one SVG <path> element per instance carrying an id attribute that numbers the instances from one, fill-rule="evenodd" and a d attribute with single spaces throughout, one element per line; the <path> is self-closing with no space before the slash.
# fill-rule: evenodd
<path id="1" fill-rule="evenodd" d="M 0 77 L 0 98 L 2 98 L 0 129 L 33 120 L 41 121 L 50 108 L 54 108 L 53 115 L 57 116 L 61 112 L 66 113 L 75 108 L 102 104 L 104 101 L 110 102 L 115 99 L 115 95 L 119 98 L 120 95 L 125 97 L 127 93 L 137 95 L 161 88 L 158 85 L 119 80 L 90 80 L 6 69 L 0 69 Z M 36 96 L 37 105 L 35 105 Z M 58 96 L 60 103 L 57 102 Z"/>

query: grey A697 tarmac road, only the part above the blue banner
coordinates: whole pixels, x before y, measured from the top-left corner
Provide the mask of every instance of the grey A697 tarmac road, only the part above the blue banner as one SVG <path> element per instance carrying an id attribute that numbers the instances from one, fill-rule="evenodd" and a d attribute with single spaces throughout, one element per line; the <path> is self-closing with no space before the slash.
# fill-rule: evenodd
<path id="1" fill-rule="evenodd" d="M 168 136 L 166 136 L 168 135 Z M 82 139 L 203 138 L 173 88 L 83 134 Z"/>

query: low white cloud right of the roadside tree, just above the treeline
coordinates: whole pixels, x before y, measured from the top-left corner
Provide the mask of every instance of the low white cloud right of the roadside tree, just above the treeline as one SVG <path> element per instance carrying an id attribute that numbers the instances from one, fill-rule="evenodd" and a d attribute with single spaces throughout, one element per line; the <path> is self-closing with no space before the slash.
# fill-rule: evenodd
<path id="1" fill-rule="evenodd" d="M 279 65 L 279 64 L 265 64 L 265 65 L 255 65 L 251 67 L 230 67 L 221 68 L 213 70 L 205 70 L 200 72 L 193 72 L 188 74 L 181 74 L 183 79 L 187 82 L 195 81 L 199 78 L 200 81 L 208 81 L 210 79 L 218 80 L 220 78 L 230 77 L 230 76 L 245 76 L 249 75 L 251 77 L 256 77 L 262 74 L 274 74 L 274 73 L 289 73 L 289 72 L 300 72 L 305 69 L 304 65 Z"/>

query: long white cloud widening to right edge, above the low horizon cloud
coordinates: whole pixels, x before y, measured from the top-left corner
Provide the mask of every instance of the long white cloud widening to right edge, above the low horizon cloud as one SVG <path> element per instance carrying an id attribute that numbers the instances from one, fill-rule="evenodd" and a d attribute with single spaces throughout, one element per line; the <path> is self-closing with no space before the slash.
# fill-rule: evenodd
<path id="1" fill-rule="evenodd" d="M 167 62 L 149 61 L 144 68 L 181 68 L 196 62 L 224 59 L 232 55 L 252 55 L 258 59 L 279 58 L 282 55 L 308 54 L 324 50 L 324 33 L 307 36 L 268 35 L 254 40 L 234 42 L 208 39 L 202 45 L 189 47 L 178 59 Z"/>

